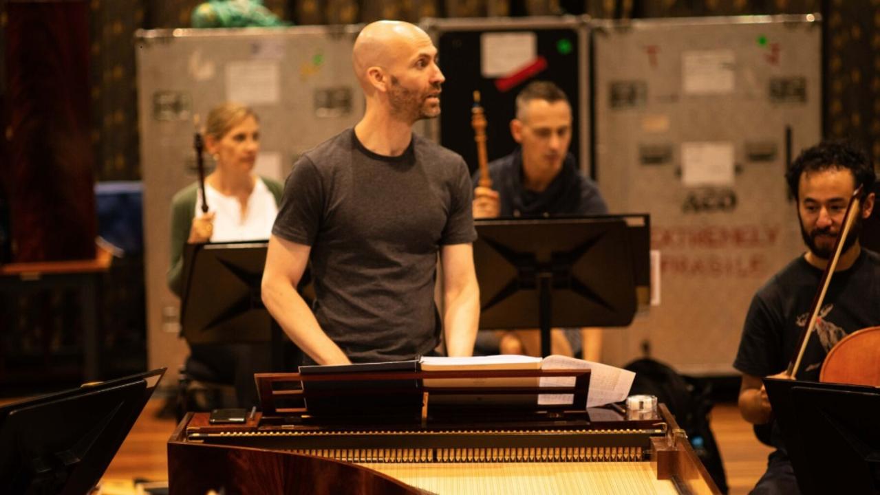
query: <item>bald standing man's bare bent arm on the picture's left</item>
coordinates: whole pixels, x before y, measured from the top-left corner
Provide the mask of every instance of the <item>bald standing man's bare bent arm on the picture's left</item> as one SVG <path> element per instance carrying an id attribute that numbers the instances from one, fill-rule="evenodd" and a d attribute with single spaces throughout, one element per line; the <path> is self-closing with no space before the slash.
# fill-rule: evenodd
<path id="1" fill-rule="evenodd" d="M 303 297 L 297 292 L 309 261 L 310 246 L 269 237 L 262 299 L 284 333 L 318 364 L 348 364 L 345 353 L 321 330 Z"/>

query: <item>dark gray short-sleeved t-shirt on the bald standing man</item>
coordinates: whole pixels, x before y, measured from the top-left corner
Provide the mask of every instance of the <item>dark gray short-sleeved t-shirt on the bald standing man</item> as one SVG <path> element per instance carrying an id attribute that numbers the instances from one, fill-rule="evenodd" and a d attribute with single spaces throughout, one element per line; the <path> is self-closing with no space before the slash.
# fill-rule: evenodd
<path id="1" fill-rule="evenodd" d="M 312 309 L 348 359 L 413 359 L 437 345 L 437 252 L 476 239 L 472 194 L 465 161 L 418 135 L 383 157 L 347 129 L 297 160 L 272 233 L 312 246 Z"/>

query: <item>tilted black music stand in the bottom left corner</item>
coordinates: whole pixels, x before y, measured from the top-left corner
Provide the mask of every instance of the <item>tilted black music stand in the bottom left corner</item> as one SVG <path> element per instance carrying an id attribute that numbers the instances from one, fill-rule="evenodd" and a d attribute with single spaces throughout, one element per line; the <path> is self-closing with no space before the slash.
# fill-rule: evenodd
<path id="1" fill-rule="evenodd" d="M 0 407 L 4 493 L 88 493 L 165 374 L 159 368 Z"/>

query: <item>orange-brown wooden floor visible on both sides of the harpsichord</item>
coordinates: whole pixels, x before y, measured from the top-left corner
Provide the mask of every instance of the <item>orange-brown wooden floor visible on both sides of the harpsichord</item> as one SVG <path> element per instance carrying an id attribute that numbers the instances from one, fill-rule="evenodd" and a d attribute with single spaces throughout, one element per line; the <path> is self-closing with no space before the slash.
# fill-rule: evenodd
<path id="1" fill-rule="evenodd" d="M 134 478 L 164 481 L 168 477 L 165 442 L 174 429 L 173 419 L 158 419 L 163 400 L 152 399 L 104 475 L 123 485 Z M 731 495 L 748 493 L 766 466 L 770 448 L 755 440 L 752 427 L 739 416 L 736 404 L 718 404 L 712 412 L 712 429 L 721 448 Z"/>

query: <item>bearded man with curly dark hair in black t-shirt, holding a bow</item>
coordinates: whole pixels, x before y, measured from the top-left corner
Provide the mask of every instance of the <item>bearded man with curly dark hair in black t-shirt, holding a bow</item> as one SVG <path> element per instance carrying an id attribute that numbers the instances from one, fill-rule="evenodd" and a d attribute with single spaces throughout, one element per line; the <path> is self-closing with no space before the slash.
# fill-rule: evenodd
<path id="1" fill-rule="evenodd" d="M 788 378 L 788 362 L 810 318 L 810 306 L 847 205 L 863 186 L 857 219 L 843 244 L 815 332 L 810 336 L 794 378 L 818 381 L 825 355 L 853 331 L 880 324 L 880 255 L 859 244 L 862 221 L 874 207 L 876 173 L 868 158 L 845 142 L 821 142 L 805 149 L 788 167 L 786 178 L 797 202 L 807 251 L 776 273 L 752 299 L 743 337 L 733 363 L 743 373 L 739 411 L 746 421 L 769 431 L 767 470 L 752 493 L 799 493 L 788 451 L 767 400 L 762 377 Z M 758 431 L 756 429 L 756 431 Z"/>

